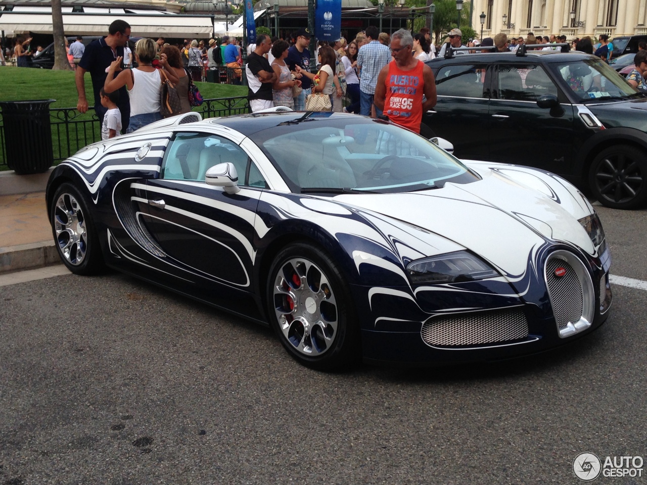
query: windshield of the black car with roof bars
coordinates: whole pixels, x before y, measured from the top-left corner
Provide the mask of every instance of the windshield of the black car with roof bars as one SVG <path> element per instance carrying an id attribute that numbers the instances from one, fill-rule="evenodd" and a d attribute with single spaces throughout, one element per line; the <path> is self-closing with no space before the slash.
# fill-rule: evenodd
<path id="1" fill-rule="evenodd" d="M 557 63 L 556 68 L 565 85 L 580 100 L 630 98 L 638 92 L 602 59 Z"/>

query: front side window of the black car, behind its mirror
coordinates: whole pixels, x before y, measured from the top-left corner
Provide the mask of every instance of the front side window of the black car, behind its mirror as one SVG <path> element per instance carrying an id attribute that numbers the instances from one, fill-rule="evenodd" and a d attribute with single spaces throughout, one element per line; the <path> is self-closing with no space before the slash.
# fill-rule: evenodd
<path id="1" fill-rule="evenodd" d="M 500 65 L 498 93 L 501 100 L 536 101 L 543 94 L 557 96 L 557 88 L 538 65 Z"/>

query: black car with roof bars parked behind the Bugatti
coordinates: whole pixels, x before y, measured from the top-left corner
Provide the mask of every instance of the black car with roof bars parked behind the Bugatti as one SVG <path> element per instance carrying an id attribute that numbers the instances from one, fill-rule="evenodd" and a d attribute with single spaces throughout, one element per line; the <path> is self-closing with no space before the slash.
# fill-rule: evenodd
<path id="1" fill-rule="evenodd" d="M 422 122 L 454 155 L 557 173 L 612 208 L 647 203 L 647 95 L 604 61 L 520 50 L 427 65 L 438 102 Z"/>

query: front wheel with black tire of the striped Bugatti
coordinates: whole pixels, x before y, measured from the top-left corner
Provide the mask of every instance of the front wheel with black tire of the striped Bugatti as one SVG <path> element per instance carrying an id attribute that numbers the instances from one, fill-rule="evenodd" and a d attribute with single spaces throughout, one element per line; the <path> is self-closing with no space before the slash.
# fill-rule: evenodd
<path id="1" fill-rule="evenodd" d="M 318 248 L 296 242 L 276 255 L 268 275 L 267 309 L 283 347 L 303 365 L 339 371 L 360 360 L 360 329 L 349 287 L 338 265 Z"/>

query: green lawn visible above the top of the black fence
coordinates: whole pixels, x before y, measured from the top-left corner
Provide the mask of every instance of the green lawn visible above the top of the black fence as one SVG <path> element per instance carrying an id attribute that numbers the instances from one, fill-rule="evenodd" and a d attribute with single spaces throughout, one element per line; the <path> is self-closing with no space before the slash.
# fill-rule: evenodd
<path id="1" fill-rule="evenodd" d="M 69 70 L 28 69 L 24 67 L 0 67 L 2 89 L 0 101 L 56 100 L 50 107 L 76 107 L 78 95 L 74 72 Z M 247 96 L 247 87 L 228 84 L 196 83 L 204 99 L 234 98 Z M 90 74 L 85 74 L 85 96 L 89 105 L 94 105 Z"/>

